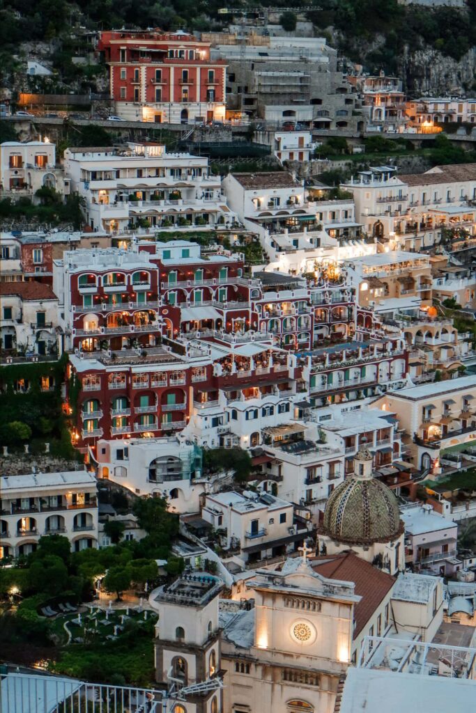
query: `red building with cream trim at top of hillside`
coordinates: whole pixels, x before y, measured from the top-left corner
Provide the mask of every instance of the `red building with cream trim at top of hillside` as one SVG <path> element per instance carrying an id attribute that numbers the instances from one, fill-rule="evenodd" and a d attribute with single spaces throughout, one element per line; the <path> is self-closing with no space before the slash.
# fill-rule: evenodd
<path id="1" fill-rule="evenodd" d="M 195 123 L 225 117 L 226 63 L 186 32 L 108 31 L 98 42 L 116 113 L 131 121 Z"/>

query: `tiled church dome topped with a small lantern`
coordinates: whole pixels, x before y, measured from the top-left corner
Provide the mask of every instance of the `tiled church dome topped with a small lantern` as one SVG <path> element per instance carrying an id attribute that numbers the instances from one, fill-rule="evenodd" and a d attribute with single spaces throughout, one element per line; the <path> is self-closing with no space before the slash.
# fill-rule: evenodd
<path id="1" fill-rule="evenodd" d="M 397 498 L 384 483 L 373 478 L 368 448 L 361 448 L 354 461 L 355 474 L 335 488 L 325 506 L 325 535 L 349 544 L 397 538 L 402 531 Z"/>

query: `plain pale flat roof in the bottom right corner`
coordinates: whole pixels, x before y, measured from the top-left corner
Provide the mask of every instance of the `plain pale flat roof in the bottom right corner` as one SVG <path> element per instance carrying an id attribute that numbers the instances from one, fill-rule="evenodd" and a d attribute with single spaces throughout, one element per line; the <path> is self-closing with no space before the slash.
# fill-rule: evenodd
<path id="1" fill-rule="evenodd" d="M 340 713 L 448 713 L 472 710 L 476 683 L 447 676 L 350 667 Z"/>

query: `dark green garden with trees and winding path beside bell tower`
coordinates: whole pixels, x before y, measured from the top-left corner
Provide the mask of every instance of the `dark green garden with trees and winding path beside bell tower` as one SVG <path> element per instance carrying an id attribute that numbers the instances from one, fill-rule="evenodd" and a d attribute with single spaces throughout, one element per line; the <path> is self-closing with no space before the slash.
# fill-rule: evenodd
<path id="1" fill-rule="evenodd" d="M 178 516 L 162 498 L 141 498 L 140 541 L 71 552 L 61 535 L 39 539 L 34 553 L 0 568 L 0 660 L 91 682 L 153 682 L 153 627 L 147 593 L 183 571 L 171 555 Z M 121 525 L 121 523 L 111 523 Z M 167 560 L 160 575 L 156 560 Z M 101 591 L 99 591 L 101 590 Z"/>

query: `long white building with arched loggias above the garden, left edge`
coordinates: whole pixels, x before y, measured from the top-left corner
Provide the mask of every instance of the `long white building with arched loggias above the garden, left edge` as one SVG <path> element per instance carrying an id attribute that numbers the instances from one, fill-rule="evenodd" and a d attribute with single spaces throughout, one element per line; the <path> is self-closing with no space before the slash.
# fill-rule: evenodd
<path id="1" fill-rule="evenodd" d="M 96 478 L 86 471 L 1 477 L 0 558 L 28 555 L 60 533 L 79 552 L 97 547 Z"/>

